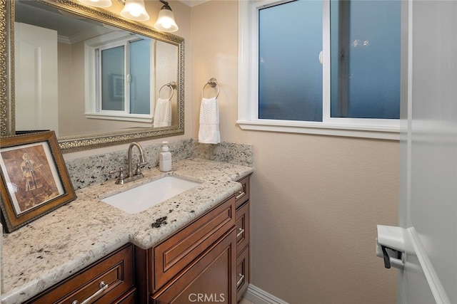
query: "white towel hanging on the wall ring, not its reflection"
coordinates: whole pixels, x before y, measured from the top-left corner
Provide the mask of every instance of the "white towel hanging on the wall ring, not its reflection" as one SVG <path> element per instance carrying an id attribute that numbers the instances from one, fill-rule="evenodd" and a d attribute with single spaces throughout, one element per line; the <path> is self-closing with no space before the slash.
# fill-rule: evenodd
<path id="1" fill-rule="evenodd" d="M 199 142 L 219 144 L 219 105 L 216 98 L 202 98 L 200 105 Z"/>

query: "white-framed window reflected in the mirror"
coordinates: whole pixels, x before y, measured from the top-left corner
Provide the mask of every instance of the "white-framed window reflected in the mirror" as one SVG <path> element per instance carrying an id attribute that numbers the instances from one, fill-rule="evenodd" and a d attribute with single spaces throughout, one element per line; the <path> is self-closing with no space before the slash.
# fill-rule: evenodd
<path id="1" fill-rule="evenodd" d="M 152 122 L 154 41 L 116 33 L 86 41 L 86 117 Z"/>

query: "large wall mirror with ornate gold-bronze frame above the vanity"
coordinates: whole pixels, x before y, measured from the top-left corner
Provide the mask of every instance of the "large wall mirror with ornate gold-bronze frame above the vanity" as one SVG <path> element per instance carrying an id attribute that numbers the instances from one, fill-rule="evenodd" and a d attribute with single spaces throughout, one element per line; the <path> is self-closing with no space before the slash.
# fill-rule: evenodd
<path id="1" fill-rule="evenodd" d="M 56 130 L 74 152 L 184 134 L 184 38 L 73 0 L 0 11 L 0 137 Z"/>

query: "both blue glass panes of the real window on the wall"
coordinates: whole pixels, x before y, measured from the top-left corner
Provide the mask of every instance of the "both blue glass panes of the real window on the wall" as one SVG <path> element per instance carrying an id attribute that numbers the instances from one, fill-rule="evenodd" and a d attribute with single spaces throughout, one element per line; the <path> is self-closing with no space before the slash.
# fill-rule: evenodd
<path id="1" fill-rule="evenodd" d="M 330 37 L 322 5 L 296 0 L 258 11 L 258 118 L 323 121 L 325 38 L 330 117 L 398 119 L 401 1 L 331 0 Z"/>

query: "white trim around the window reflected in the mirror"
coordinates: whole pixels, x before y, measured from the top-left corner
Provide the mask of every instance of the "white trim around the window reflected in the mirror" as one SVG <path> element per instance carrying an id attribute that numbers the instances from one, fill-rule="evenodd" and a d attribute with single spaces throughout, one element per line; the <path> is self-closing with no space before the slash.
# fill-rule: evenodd
<path id="1" fill-rule="evenodd" d="M 151 114 L 131 114 L 129 105 L 126 105 L 126 109 L 124 111 L 113 111 L 113 110 L 97 110 L 99 105 L 97 105 L 96 95 L 100 94 L 96 92 L 96 85 L 95 82 L 98 81 L 95 73 L 95 49 L 99 48 L 99 46 L 121 46 L 122 43 L 126 43 L 126 41 L 131 40 L 131 35 L 126 35 L 125 33 L 121 33 L 118 31 L 107 33 L 101 36 L 97 36 L 96 38 L 91 38 L 84 41 L 84 75 L 85 75 L 85 108 L 86 111 L 84 115 L 86 118 L 89 119 L 101 119 L 101 120 L 122 120 L 122 121 L 129 121 L 129 122 L 147 122 L 151 123 L 154 121 L 154 91 L 155 86 L 154 83 L 151 81 L 150 88 L 151 88 L 151 103 L 149 105 Z M 110 43 L 111 41 L 111 43 Z M 125 46 L 125 44 L 124 44 Z M 154 58 L 154 50 L 151 48 L 151 58 Z M 126 63 L 129 64 L 129 63 Z M 151 70 L 155 70 L 154 68 L 154 61 L 151 61 Z M 129 81 L 129 76 L 125 79 L 125 81 Z M 126 90 L 129 90 L 129 86 L 126 85 Z M 129 93 L 126 91 L 126 93 Z"/>

